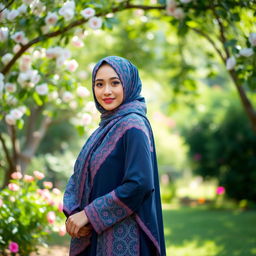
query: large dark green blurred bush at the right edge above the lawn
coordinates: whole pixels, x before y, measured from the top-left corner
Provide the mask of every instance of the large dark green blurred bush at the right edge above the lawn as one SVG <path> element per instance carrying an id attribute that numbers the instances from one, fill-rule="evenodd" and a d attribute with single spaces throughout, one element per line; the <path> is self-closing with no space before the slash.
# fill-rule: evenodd
<path id="1" fill-rule="evenodd" d="M 226 194 L 256 201 L 256 136 L 241 108 L 234 102 L 216 122 L 214 109 L 185 132 L 196 174 L 217 177 Z"/>

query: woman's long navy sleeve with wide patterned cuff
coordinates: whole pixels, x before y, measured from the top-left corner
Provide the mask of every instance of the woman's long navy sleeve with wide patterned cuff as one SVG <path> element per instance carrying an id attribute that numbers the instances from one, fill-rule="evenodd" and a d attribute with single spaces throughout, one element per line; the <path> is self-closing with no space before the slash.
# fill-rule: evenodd
<path id="1" fill-rule="evenodd" d="M 154 191 L 148 136 L 137 128 L 127 130 L 123 136 L 125 170 L 122 183 L 84 208 L 98 234 L 135 212 Z"/>

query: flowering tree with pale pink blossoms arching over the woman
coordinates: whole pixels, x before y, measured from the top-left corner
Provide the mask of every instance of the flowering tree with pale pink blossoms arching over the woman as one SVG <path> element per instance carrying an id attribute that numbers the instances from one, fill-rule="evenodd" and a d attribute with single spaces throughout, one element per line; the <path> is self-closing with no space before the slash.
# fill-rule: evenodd
<path id="1" fill-rule="evenodd" d="M 26 169 L 49 125 L 77 117 L 73 121 L 84 129 L 91 122 L 95 108 L 84 103 L 89 92 L 75 80 L 78 63 L 66 46 L 82 47 L 85 30 L 109 28 L 116 23 L 115 13 L 128 9 L 156 10 L 158 19 L 171 22 L 181 36 L 193 31 L 207 39 L 226 65 L 256 131 L 246 93 L 255 89 L 256 80 L 256 34 L 248 26 L 255 19 L 254 1 L 10 1 L 0 5 L 0 141 L 6 159 L 0 164 L 7 170 L 5 184 L 13 171 Z"/>

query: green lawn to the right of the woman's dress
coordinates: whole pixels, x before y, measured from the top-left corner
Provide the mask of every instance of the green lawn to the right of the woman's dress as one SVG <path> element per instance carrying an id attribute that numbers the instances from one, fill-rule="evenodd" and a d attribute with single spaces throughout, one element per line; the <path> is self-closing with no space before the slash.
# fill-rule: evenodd
<path id="1" fill-rule="evenodd" d="M 164 209 L 168 256 L 256 255 L 256 211 Z"/>

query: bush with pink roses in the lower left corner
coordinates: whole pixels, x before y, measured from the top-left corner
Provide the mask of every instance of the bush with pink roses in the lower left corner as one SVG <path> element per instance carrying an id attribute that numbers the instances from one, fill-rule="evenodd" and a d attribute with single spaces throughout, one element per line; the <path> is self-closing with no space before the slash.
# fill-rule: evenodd
<path id="1" fill-rule="evenodd" d="M 52 189 L 49 181 L 40 188 L 44 174 L 39 171 L 33 176 L 15 172 L 11 177 L 0 192 L 0 255 L 29 255 L 51 232 L 65 235 L 60 190 Z"/>

